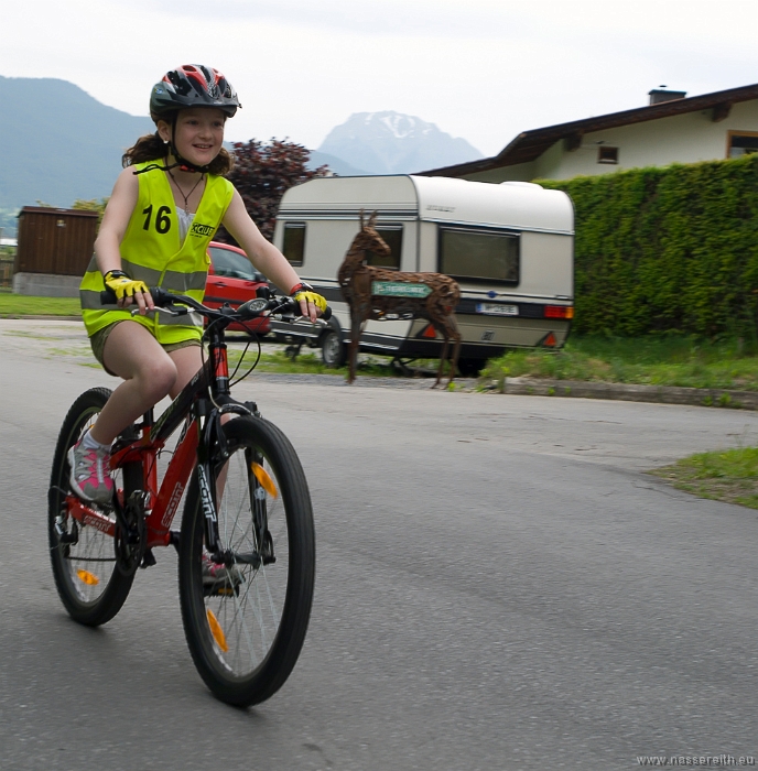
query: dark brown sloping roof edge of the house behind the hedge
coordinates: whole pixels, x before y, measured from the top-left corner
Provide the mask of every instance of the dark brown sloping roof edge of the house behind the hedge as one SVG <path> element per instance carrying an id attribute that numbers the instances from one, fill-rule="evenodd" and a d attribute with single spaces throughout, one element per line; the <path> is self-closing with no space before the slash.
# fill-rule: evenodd
<path id="1" fill-rule="evenodd" d="M 458 163 L 454 166 L 432 169 L 425 172 L 418 172 L 418 174 L 422 176 L 461 176 L 475 172 L 486 172 L 490 169 L 512 166 L 517 163 L 529 163 L 542 155 L 545 150 L 561 139 L 567 140 L 570 149 L 571 145 L 578 148 L 582 137 L 586 133 L 615 129 L 619 126 L 642 123 L 648 120 L 658 120 L 659 118 L 670 118 L 671 116 L 685 112 L 713 109 L 713 120 L 719 121 L 728 117 L 732 105 L 738 101 L 749 101 L 750 99 L 758 99 L 758 84 L 729 88 L 725 91 L 714 91 L 713 94 L 703 94 L 702 96 L 685 99 L 672 99 L 658 105 L 637 107 L 632 110 L 622 110 L 621 112 L 610 112 L 609 115 L 585 118 L 584 120 L 573 120 L 568 123 L 548 126 L 544 129 L 522 131 L 500 153 L 492 158 L 485 158 L 469 163 Z"/>

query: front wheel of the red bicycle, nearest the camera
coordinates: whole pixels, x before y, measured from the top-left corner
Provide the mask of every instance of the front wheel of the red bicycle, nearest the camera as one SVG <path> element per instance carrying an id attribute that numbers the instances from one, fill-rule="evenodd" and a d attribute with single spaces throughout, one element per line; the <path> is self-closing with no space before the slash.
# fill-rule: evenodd
<path id="1" fill-rule="evenodd" d="M 195 471 L 180 536 L 180 600 L 199 675 L 220 701 L 247 707 L 279 691 L 300 655 L 313 602 L 315 533 L 305 475 L 284 434 L 268 421 L 249 417 L 236 417 L 223 431 L 230 456 L 212 480 L 216 490 L 223 489 L 217 495 L 221 547 L 236 554 L 261 551 L 253 526 L 259 506 L 275 562 L 258 567 L 236 563 L 231 569 L 239 572 L 239 585 L 213 588 L 207 576 L 204 585 L 203 561 L 208 556 Z M 260 468 L 251 471 L 251 460 L 266 470 L 268 491 L 259 481 Z"/>

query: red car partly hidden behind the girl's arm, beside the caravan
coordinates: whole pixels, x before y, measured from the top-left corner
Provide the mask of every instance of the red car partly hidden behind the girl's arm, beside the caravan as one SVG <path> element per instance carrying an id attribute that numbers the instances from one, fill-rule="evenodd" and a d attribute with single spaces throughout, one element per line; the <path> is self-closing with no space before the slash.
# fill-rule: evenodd
<path id="1" fill-rule="evenodd" d="M 238 247 L 228 243 L 210 241 L 208 245 L 208 280 L 205 283 L 205 300 L 208 307 L 217 308 L 229 303 L 236 308 L 238 305 L 252 300 L 259 286 L 268 286 L 269 282 L 262 273 L 259 273 L 245 252 Z M 256 318 L 247 322 L 247 326 L 259 335 L 266 335 L 271 326 L 269 318 Z M 230 330 L 242 332 L 239 324 L 229 326 Z"/>

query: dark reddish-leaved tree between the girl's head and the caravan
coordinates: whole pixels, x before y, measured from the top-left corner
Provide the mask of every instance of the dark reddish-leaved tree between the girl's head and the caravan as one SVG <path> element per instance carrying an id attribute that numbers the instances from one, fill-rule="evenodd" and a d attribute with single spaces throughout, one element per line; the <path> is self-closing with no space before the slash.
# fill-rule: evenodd
<path id="1" fill-rule="evenodd" d="M 227 178 L 239 191 L 245 208 L 266 238 L 273 238 L 279 203 L 293 185 L 317 176 L 328 176 L 327 166 L 305 167 L 310 151 L 285 139 L 272 139 L 268 144 L 251 139 L 235 142 L 235 167 Z M 216 239 L 226 243 L 235 240 L 224 228 Z"/>

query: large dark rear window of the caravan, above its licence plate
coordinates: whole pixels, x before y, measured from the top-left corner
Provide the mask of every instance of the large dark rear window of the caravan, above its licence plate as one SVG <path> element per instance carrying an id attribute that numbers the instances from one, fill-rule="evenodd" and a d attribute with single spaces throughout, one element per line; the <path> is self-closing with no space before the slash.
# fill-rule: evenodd
<path id="1" fill-rule="evenodd" d="M 454 279 L 519 283 L 520 239 L 502 230 L 440 227 L 440 272 Z"/>

